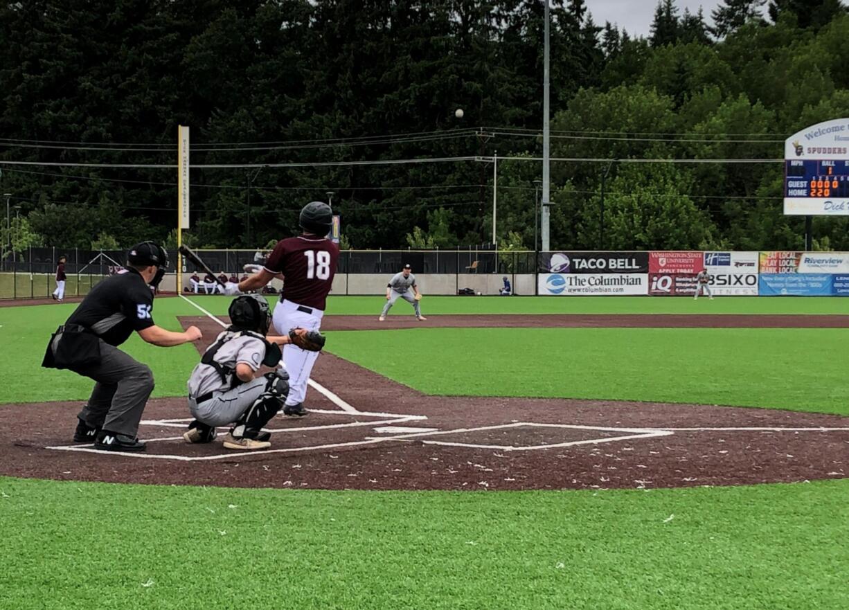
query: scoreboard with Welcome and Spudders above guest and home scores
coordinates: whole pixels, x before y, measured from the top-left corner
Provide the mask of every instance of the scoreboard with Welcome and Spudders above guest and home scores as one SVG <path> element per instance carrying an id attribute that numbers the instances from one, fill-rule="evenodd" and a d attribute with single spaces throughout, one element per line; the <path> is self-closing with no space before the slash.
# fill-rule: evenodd
<path id="1" fill-rule="evenodd" d="M 787 138 L 784 214 L 849 215 L 849 119 L 827 120 Z"/>

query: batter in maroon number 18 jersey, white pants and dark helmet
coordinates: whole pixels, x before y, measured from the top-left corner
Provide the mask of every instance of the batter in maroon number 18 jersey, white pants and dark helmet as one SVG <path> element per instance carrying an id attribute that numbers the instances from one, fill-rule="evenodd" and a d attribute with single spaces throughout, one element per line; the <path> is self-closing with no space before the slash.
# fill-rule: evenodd
<path id="1" fill-rule="evenodd" d="M 225 294 L 256 290 L 278 277 L 284 280 L 284 287 L 280 302 L 274 308 L 273 324 L 277 333 L 285 335 L 296 327 L 318 331 L 339 260 L 339 246 L 325 237 L 332 222 L 333 211 L 328 204 L 322 201 L 306 204 L 300 217 L 303 233 L 280 240 L 259 273 L 238 285 L 228 283 Z M 317 359 L 318 352 L 302 350 L 296 345 L 284 347 L 283 362 L 289 372 L 284 415 L 303 417 L 307 414 L 303 405 L 306 383 Z"/>

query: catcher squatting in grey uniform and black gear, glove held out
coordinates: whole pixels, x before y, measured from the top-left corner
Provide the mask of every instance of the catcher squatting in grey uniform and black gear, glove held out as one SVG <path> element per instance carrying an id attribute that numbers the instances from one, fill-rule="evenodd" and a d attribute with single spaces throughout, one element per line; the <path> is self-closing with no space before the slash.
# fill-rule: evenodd
<path id="1" fill-rule="evenodd" d="M 266 299 L 243 294 L 233 299 L 231 325 L 208 347 L 188 378 L 188 409 L 194 421 L 183 434 L 187 443 L 210 443 L 216 426 L 232 424 L 224 447 L 255 451 L 271 446 L 271 434 L 262 428 L 271 421 L 289 395 L 289 375 L 277 368 L 281 345 L 320 351 L 324 336 L 294 328 L 284 337 L 267 337 L 271 323 Z M 261 374 L 260 367 L 274 368 Z"/>

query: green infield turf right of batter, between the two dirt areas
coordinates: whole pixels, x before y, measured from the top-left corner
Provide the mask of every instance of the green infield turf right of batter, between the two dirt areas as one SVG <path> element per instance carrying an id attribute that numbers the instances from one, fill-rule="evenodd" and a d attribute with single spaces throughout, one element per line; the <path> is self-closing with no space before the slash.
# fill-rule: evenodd
<path id="1" fill-rule="evenodd" d="M 330 333 L 327 349 L 431 395 L 849 414 L 849 329 L 419 327 Z"/>

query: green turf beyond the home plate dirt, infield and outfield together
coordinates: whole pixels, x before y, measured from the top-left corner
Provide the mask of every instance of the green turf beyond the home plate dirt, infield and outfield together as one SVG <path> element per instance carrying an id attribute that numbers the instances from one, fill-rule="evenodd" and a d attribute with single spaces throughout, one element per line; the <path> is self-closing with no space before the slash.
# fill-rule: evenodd
<path id="1" fill-rule="evenodd" d="M 213 314 L 225 315 L 231 299 L 194 300 Z M 475 299 L 433 300 L 435 309 L 439 305 L 442 313 L 447 313 Z M 690 308 L 706 305 L 706 310 L 723 302 L 720 299 L 694 303 L 692 299 L 498 297 L 475 302 L 498 308 L 499 312 L 530 313 L 529 309 L 543 305 L 591 305 L 591 301 L 603 305 L 611 300 L 621 300 L 623 305 L 627 301 L 634 308 L 679 303 Z M 728 308 L 735 306 L 734 312 L 784 302 L 783 299 L 726 300 Z M 356 313 L 374 302 L 375 299 L 363 297 L 337 298 L 331 306 L 335 311 L 342 310 L 337 313 Z M 812 311 L 844 301 L 790 299 L 788 303 L 811 305 L 808 311 Z M 402 305 L 407 304 L 400 304 L 393 311 L 403 311 Z M 509 310 L 520 305 L 525 309 Z M 20 367 L 22 361 L 30 365 L 28 375 L 8 376 L 0 388 L 0 403 L 87 398 L 91 391 L 89 380 L 72 372 L 38 366 L 50 333 L 74 307 L 74 304 L 50 304 L 0 308 L 0 342 L 6 348 L 0 350 L 0 367 L 11 371 Z M 177 316 L 198 315 L 200 311 L 184 299 L 157 299 L 155 303 L 155 321 L 171 330 L 180 328 Z M 846 341 L 849 331 L 843 329 L 419 327 L 331 335 L 329 350 L 333 353 L 432 394 L 707 402 L 838 413 L 849 410 L 841 398 L 849 394 L 849 382 L 841 364 L 849 361 Z M 163 349 L 145 344 L 134 335 L 126 349 L 153 369 L 154 396 L 184 395 L 188 374 L 197 364 L 193 346 Z M 523 354 L 521 359 L 515 357 L 517 353 Z M 439 358 L 422 356 L 426 354 Z M 486 358 L 474 354 L 486 354 Z M 670 373 L 676 366 L 685 367 L 686 374 L 672 376 Z M 469 374 L 470 371 L 475 374 Z M 677 381 L 671 382 L 671 378 Z"/>

